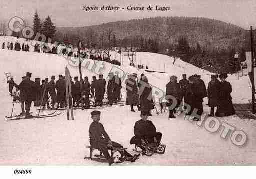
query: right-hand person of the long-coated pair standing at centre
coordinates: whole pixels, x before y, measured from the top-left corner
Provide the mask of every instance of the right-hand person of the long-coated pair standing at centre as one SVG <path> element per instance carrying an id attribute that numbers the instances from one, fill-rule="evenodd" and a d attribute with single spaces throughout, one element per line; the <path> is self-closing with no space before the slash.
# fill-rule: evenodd
<path id="1" fill-rule="evenodd" d="M 152 116 L 150 110 L 154 109 L 153 99 L 152 99 L 152 88 L 148 83 L 148 78 L 143 76 L 141 79 L 141 85 L 139 88 L 140 92 L 140 108 L 142 111 L 146 111 L 148 116 Z M 144 88 L 144 89 L 141 89 Z"/>

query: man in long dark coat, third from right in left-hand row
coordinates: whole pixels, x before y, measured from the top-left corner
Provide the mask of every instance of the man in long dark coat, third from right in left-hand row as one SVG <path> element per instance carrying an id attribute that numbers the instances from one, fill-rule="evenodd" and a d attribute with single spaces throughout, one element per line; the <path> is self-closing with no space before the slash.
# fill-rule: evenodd
<path id="1" fill-rule="evenodd" d="M 95 105 L 102 106 L 102 100 L 104 99 L 104 94 L 106 90 L 106 80 L 103 78 L 103 75 L 99 75 L 99 80 L 95 84 Z"/>

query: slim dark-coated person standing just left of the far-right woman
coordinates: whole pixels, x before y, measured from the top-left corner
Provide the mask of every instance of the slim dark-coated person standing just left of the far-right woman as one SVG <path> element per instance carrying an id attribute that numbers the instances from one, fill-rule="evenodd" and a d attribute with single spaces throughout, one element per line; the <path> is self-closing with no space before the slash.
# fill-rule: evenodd
<path id="1" fill-rule="evenodd" d="M 220 81 L 216 75 L 211 75 L 211 81 L 208 83 L 207 94 L 208 94 L 208 105 L 211 107 L 209 116 L 214 116 L 214 108 L 218 106 L 218 94 Z"/>

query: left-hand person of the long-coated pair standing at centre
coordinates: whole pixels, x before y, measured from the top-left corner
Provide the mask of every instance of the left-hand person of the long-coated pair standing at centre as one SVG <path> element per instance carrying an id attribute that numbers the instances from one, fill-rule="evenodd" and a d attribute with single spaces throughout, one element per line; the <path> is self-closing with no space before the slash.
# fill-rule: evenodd
<path id="1" fill-rule="evenodd" d="M 137 106 L 140 111 L 140 97 L 138 94 L 138 86 L 135 80 L 135 76 L 128 75 L 128 79 L 125 80 L 126 84 L 126 105 L 131 106 L 131 111 L 134 111 L 133 106 Z"/>

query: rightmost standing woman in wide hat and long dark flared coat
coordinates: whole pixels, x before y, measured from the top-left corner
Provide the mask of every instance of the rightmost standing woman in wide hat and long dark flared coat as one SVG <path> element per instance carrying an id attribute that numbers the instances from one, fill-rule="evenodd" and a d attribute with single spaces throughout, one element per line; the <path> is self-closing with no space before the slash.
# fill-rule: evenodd
<path id="1" fill-rule="evenodd" d="M 232 86 L 226 81 L 227 74 L 220 74 L 220 86 L 219 86 L 219 104 L 215 115 L 219 117 L 230 116 L 235 114 L 235 110 L 232 104 L 232 97 L 230 95 Z"/>

